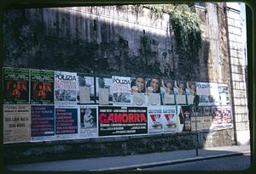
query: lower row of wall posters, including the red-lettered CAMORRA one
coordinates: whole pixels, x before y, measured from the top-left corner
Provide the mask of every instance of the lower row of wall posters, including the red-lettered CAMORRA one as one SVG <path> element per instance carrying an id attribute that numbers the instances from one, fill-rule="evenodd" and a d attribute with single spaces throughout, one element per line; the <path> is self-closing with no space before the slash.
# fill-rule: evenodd
<path id="1" fill-rule="evenodd" d="M 230 106 L 4 104 L 3 143 L 214 131 L 232 128 L 232 123 Z"/>

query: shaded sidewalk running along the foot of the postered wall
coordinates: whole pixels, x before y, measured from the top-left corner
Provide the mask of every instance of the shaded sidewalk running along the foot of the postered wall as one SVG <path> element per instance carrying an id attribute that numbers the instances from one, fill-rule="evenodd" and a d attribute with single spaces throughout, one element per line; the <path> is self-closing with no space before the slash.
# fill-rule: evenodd
<path id="1" fill-rule="evenodd" d="M 7 166 L 10 171 L 112 171 L 136 170 L 152 166 L 163 166 L 218 158 L 221 156 L 250 153 L 250 146 L 226 146 L 218 148 L 177 150 L 153 154 L 134 154 L 127 156 L 100 157 L 80 160 L 59 160 L 34 164 Z M 68 154 L 67 154 L 68 155 Z"/>

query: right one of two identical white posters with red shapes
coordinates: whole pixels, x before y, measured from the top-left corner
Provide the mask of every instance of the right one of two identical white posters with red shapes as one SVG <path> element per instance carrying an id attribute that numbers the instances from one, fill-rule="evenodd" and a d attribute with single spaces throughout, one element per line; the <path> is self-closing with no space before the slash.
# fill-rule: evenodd
<path id="1" fill-rule="evenodd" d="M 164 132 L 177 132 L 176 106 L 162 106 Z"/>

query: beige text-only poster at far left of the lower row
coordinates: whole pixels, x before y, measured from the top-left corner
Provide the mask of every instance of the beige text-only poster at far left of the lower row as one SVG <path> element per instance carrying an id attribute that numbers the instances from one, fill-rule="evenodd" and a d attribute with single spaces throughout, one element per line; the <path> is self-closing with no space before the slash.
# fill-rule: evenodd
<path id="1" fill-rule="evenodd" d="M 29 142 L 30 140 L 30 105 L 3 104 L 3 143 Z"/>

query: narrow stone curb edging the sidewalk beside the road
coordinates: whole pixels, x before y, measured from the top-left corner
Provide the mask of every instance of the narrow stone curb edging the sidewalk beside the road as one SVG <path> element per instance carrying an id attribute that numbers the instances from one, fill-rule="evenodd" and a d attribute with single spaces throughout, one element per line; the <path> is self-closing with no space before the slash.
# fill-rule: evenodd
<path id="1" fill-rule="evenodd" d="M 110 167 L 110 168 L 90 170 L 90 171 L 132 171 L 132 170 L 140 170 L 143 168 L 150 168 L 150 167 L 155 167 L 155 166 L 174 165 L 174 164 L 191 162 L 191 161 L 196 161 L 196 160 L 208 160 L 208 159 L 215 159 L 215 158 L 223 158 L 223 157 L 227 157 L 227 156 L 235 156 L 235 155 L 242 155 L 242 154 L 248 154 L 248 153 L 250 153 L 250 151 L 235 152 L 235 153 L 228 153 L 228 154 L 216 154 L 216 155 L 210 155 L 210 156 L 205 156 L 205 157 L 193 157 L 193 158 L 187 158 L 187 159 L 181 159 L 181 160 L 165 160 L 165 161 L 151 162 L 151 163 L 140 164 L 140 165 Z"/>

